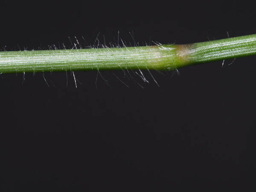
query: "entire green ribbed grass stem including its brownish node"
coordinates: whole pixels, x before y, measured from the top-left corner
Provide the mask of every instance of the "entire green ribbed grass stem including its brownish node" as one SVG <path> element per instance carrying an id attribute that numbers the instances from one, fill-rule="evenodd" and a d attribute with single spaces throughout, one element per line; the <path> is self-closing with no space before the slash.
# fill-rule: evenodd
<path id="1" fill-rule="evenodd" d="M 249 55 L 256 55 L 256 34 L 185 45 L 0 52 L 0 73 L 172 70 Z"/>

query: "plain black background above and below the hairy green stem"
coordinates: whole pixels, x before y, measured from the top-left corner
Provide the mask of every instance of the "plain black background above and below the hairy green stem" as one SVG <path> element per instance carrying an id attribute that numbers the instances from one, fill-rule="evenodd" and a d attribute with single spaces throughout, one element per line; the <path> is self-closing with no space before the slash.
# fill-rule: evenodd
<path id="1" fill-rule="evenodd" d="M 250 2 L 251 3 L 251 2 Z M 122 40 L 185 44 L 256 32 L 246 1 L 9 1 L 0 49 Z M 87 41 L 84 42 L 83 38 Z M 232 60 L 231 60 L 232 61 Z M 2 74 L 1 191 L 255 190 L 256 57 L 152 71 L 160 87 L 112 71 Z M 53 85 L 54 84 L 54 85 Z"/>

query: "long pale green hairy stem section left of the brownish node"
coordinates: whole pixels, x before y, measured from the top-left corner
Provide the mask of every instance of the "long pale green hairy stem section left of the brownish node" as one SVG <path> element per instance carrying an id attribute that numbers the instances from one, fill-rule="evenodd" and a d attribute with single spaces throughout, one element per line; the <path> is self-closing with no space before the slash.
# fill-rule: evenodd
<path id="1" fill-rule="evenodd" d="M 152 46 L 0 52 L 0 72 L 171 68 L 174 51 L 173 46 Z"/>

